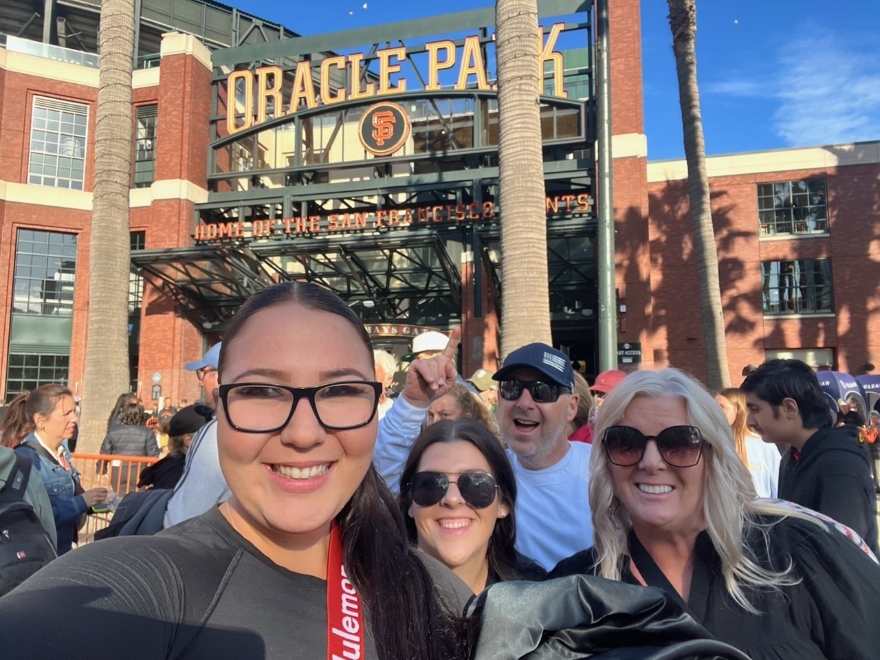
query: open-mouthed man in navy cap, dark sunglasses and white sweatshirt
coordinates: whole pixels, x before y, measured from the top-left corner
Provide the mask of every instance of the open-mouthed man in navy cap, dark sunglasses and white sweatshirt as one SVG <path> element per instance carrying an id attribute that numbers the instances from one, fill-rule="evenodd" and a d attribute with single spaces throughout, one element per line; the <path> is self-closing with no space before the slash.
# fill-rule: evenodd
<path id="1" fill-rule="evenodd" d="M 498 423 L 517 475 L 517 550 L 547 570 L 593 545 L 590 444 L 568 442 L 575 370 L 542 343 L 510 353 L 498 381 Z"/>

